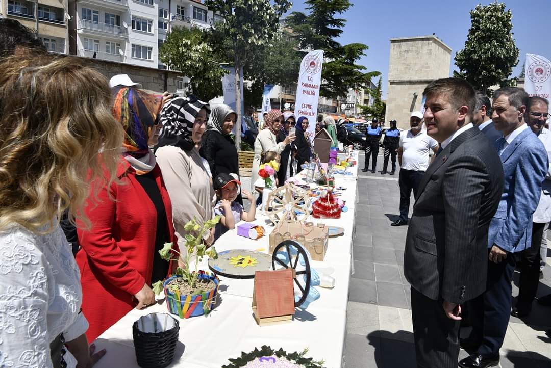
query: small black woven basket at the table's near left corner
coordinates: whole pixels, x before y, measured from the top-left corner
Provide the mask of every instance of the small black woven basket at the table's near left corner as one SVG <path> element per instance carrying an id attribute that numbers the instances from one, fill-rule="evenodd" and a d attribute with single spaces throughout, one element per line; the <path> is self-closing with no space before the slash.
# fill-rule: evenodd
<path id="1" fill-rule="evenodd" d="M 154 324 L 154 328 L 149 328 L 149 330 L 159 332 L 144 332 L 144 323 L 147 323 L 145 321 L 151 322 L 153 320 L 156 323 Z M 164 322 L 159 322 L 159 320 L 164 320 Z M 140 323 L 140 327 L 138 327 L 138 323 Z M 167 325 L 172 327 L 164 331 Z M 151 327 L 152 324 L 149 323 L 148 326 Z M 138 365 L 142 368 L 163 368 L 168 366 L 172 362 L 172 359 L 174 359 L 179 330 L 180 322 L 166 313 L 152 313 L 134 322 L 132 325 L 132 337 L 134 338 L 134 350 L 136 350 Z"/>

